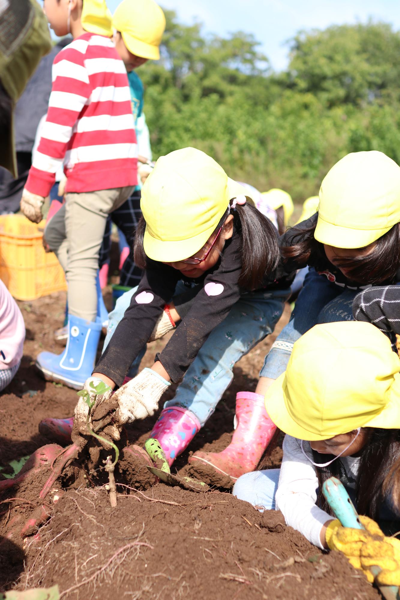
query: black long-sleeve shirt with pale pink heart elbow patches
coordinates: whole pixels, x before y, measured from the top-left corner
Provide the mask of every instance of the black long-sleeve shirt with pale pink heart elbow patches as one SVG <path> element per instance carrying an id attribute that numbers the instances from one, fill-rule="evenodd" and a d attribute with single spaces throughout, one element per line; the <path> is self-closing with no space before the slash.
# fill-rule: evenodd
<path id="1" fill-rule="evenodd" d="M 241 238 L 234 228 L 232 238 L 225 242 L 222 256 L 216 265 L 196 279 L 196 296 L 171 340 L 160 352 L 158 359 L 172 381 L 183 377 L 211 331 L 228 315 L 241 293 L 238 279 L 241 272 Z M 292 275 L 276 280 L 276 273 L 265 275 L 265 286 L 270 289 L 289 287 Z M 95 372 L 110 377 L 121 386 L 132 361 L 147 343 L 164 305 L 171 300 L 180 271 L 147 259 L 138 290 L 132 296 L 123 319 L 115 329 Z M 191 280 L 193 281 L 193 280 Z M 193 290 L 189 292 L 189 296 Z"/>

